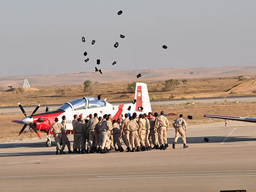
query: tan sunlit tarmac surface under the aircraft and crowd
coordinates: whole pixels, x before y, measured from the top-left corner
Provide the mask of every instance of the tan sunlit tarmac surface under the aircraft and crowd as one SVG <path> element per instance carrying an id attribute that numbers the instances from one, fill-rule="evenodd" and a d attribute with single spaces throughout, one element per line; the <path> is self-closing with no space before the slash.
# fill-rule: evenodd
<path id="1" fill-rule="evenodd" d="M 0 191 L 256 191 L 254 124 L 189 126 L 187 149 L 181 138 L 172 149 L 174 129 L 167 133 L 165 151 L 134 153 L 56 155 L 45 140 L 2 143 Z"/>

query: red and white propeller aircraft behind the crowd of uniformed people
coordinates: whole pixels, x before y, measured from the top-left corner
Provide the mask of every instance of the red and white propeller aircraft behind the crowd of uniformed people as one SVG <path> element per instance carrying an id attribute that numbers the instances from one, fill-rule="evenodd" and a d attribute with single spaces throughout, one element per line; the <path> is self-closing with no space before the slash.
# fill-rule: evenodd
<path id="1" fill-rule="evenodd" d="M 52 140 L 50 139 L 50 127 L 55 123 L 55 118 L 58 117 L 59 122 L 62 120 L 62 116 L 66 116 L 66 129 L 67 132 L 73 132 L 72 120 L 75 114 L 83 114 L 87 117 L 89 114 L 97 113 L 98 116 L 104 114 L 112 114 L 113 119 L 117 119 L 119 114 L 134 113 L 143 114 L 151 112 L 151 105 L 149 100 L 149 93 L 147 91 L 146 83 L 136 83 L 134 100 L 130 104 L 113 106 L 105 100 L 99 97 L 80 97 L 78 99 L 70 100 L 64 103 L 59 109 L 46 113 L 35 114 L 40 105 L 36 106 L 30 116 L 26 115 L 22 105 L 18 103 L 19 108 L 25 117 L 22 120 L 12 120 L 13 123 L 24 124 L 19 132 L 19 135 L 25 130 L 26 126 L 31 127 L 36 135 L 40 138 L 38 130 L 48 134 L 46 146 L 52 146 Z"/>

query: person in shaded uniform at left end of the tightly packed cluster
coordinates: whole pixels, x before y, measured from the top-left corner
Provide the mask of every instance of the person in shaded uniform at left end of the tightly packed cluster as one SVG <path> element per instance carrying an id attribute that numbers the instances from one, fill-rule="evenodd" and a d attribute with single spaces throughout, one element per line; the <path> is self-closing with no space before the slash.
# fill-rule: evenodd
<path id="1" fill-rule="evenodd" d="M 79 153 L 78 147 L 81 146 L 81 153 L 85 153 L 85 125 L 81 122 L 81 119 L 78 118 L 78 123 L 75 124 L 74 127 L 74 153 Z M 79 142 L 80 141 L 80 142 Z"/>

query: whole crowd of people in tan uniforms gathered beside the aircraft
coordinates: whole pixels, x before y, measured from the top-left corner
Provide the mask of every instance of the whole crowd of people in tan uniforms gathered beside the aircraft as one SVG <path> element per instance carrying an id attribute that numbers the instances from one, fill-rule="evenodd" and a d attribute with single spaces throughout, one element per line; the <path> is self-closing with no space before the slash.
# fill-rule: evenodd
<path id="1" fill-rule="evenodd" d="M 52 124 L 51 131 L 54 133 L 56 141 L 56 154 L 65 154 L 65 146 L 68 146 L 68 153 L 109 153 L 110 150 L 123 152 L 122 140 L 126 145 L 126 152 L 146 151 L 152 149 L 166 150 L 167 130 L 169 121 L 161 111 L 158 113 L 136 113 L 120 114 L 118 119 L 112 119 L 111 114 L 105 114 L 98 117 L 97 113 L 90 114 L 83 119 L 82 114 L 74 115 L 73 125 L 73 151 L 70 148 L 69 138 L 66 134 L 66 117 L 62 116 L 62 122 Z M 187 148 L 186 137 L 184 133 L 187 130 L 187 124 L 180 114 L 180 118 L 174 120 L 173 127 L 176 130 L 176 136 L 173 142 L 173 149 L 179 135 L 183 138 L 183 147 Z M 62 146 L 60 145 L 62 143 Z M 153 144 L 153 147 L 152 147 Z"/>

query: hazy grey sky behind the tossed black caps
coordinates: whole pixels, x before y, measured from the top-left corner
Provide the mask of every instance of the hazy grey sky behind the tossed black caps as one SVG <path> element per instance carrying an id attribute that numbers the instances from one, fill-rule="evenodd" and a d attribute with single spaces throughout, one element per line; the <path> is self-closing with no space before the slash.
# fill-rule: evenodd
<path id="1" fill-rule="evenodd" d="M 0 76 L 92 71 L 96 59 L 103 71 L 255 65 L 255 8 L 255 0 L 2 0 Z"/>

